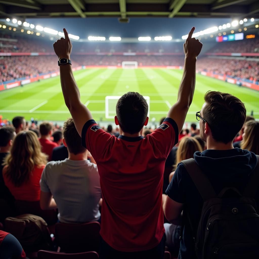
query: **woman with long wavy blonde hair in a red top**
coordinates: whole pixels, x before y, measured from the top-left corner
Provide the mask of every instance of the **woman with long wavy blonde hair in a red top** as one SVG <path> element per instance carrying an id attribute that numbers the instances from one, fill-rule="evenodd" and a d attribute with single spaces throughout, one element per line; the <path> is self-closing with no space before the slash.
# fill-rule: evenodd
<path id="1" fill-rule="evenodd" d="M 18 214 L 31 213 L 52 222 L 53 218 L 56 220 L 54 214 L 45 213 L 39 204 L 40 177 L 46 163 L 47 156 L 41 152 L 37 135 L 33 131 L 21 131 L 4 159 L 3 178 L 16 199 Z"/>

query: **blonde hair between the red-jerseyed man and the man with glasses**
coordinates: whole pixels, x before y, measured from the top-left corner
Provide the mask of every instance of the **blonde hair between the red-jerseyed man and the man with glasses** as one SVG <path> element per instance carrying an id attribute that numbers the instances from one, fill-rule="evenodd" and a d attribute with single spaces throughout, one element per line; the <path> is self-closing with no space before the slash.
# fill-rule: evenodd
<path id="1" fill-rule="evenodd" d="M 176 166 L 182 160 L 193 158 L 193 154 L 196 151 L 203 151 L 202 146 L 196 138 L 189 136 L 181 138 L 176 152 Z"/>

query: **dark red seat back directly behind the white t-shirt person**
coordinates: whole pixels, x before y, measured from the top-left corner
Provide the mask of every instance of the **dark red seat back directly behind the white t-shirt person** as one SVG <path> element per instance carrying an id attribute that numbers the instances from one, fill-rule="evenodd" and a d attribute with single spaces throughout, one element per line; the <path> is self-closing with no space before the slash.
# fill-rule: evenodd
<path id="1" fill-rule="evenodd" d="M 93 221 L 84 224 L 55 225 L 55 242 L 61 252 L 82 253 L 87 251 L 99 251 L 100 241 L 99 222 Z"/>

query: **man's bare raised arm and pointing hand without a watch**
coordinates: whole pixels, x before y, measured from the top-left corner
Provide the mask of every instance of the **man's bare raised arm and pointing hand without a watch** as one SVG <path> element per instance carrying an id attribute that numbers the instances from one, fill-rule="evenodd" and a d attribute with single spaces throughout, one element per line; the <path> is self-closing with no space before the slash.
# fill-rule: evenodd
<path id="1" fill-rule="evenodd" d="M 167 114 L 167 117 L 172 118 L 176 122 L 179 132 L 183 128 L 186 114 L 192 103 L 195 88 L 196 60 L 202 50 L 202 43 L 192 38 L 194 30 L 195 27 L 192 27 L 183 45 L 185 54 L 183 78 L 179 86 L 177 102 Z"/>

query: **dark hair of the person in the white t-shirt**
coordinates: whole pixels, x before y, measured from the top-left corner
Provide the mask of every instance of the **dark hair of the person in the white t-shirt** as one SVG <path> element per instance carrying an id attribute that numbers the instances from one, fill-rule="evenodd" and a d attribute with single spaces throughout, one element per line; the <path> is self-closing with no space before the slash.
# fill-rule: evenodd
<path id="1" fill-rule="evenodd" d="M 85 152 L 86 148 L 81 145 L 81 137 L 72 118 L 64 122 L 63 135 L 70 153 L 77 155 Z"/>

